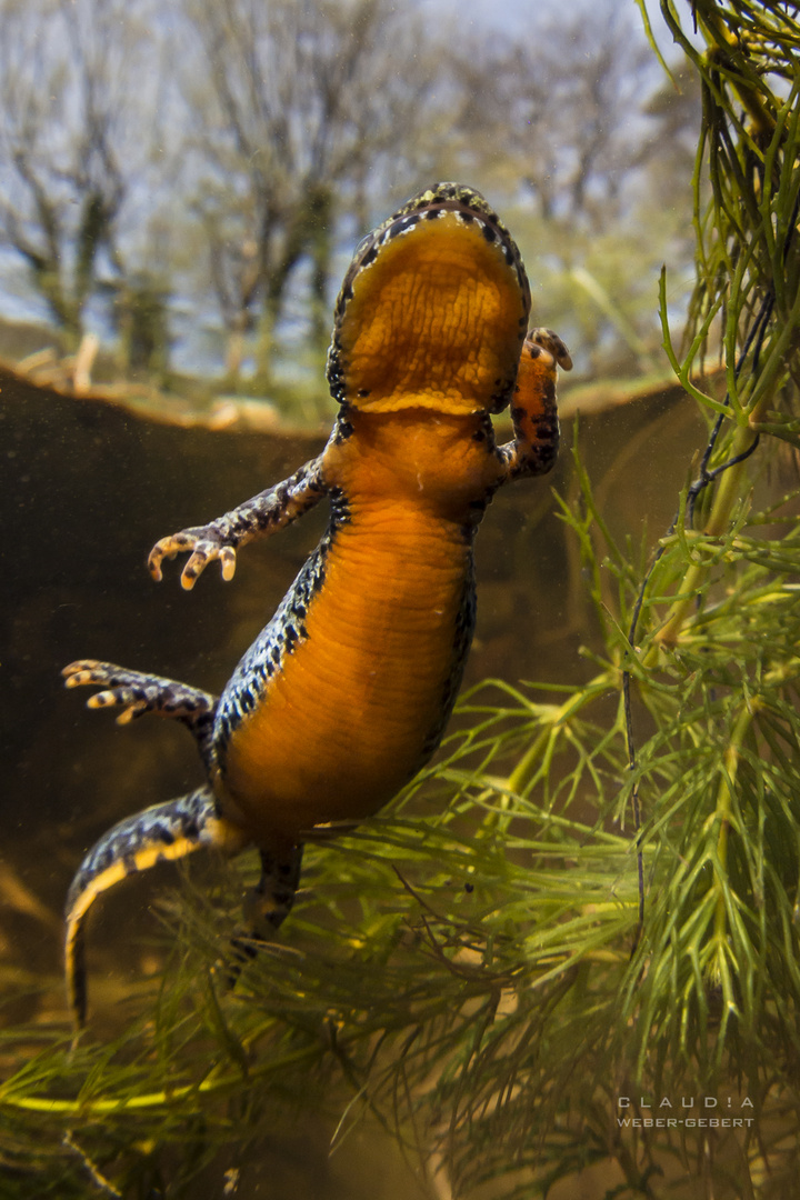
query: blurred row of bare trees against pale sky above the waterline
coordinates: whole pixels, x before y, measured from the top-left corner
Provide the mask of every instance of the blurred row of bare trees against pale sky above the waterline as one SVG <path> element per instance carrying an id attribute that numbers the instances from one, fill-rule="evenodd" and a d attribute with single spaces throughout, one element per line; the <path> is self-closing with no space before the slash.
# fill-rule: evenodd
<path id="1" fill-rule="evenodd" d="M 324 404 L 354 244 L 459 179 L 506 217 L 534 320 L 581 372 L 651 371 L 658 266 L 692 275 L 696 85 L 664 84 L 633 2 L 541 5 L 517 32 L 489 12 L 0 0 L 0 307 L 64 353 L 92 329 L 128 377 L 278 401 L 305 379 Z"/>

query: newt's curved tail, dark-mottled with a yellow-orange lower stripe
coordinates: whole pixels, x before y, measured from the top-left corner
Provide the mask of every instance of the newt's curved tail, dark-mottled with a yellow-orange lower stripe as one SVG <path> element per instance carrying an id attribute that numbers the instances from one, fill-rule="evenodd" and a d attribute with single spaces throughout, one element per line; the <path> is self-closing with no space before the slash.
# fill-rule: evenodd
<path id="1" fill-rule="evenodd" d="M 211 788 L 198 787 L 120 821 L 92 846 L 72 881 L 65 913 L 67 994 L 77 1026 L 86 1016 L 85 920 L 97 896 L 164 859 L 185 858 L 203 846 L 235 854 L 247 844 L 242 830 L 219 816 Z"/>

